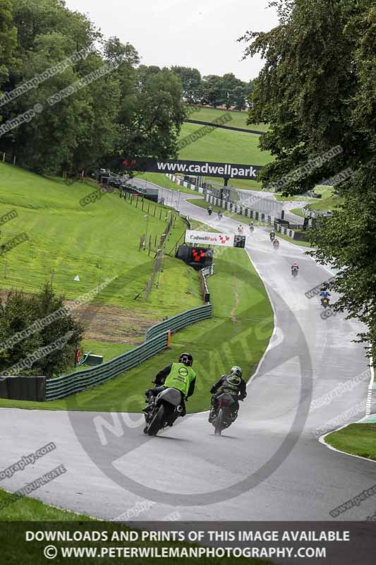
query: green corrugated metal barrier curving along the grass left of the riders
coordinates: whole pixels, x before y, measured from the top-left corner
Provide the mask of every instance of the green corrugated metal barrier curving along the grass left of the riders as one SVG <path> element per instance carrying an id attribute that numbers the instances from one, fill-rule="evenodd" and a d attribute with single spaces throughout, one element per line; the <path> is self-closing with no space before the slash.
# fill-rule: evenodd
<path id="1" fill-rule="evenodd" d="M 169 331 L 178 331 L 191 323 L 205 320 L 212 316 L 212 304 L 187 310 L 177 316 L 159 322 L 147 329 L 146 340 L 131 351 L 111 359 L 102 365 L 76 371 L 67 375 L 47 379 L 46 381 L 46 400 L 56 400 L 71 394 L 84 391 L 97 384 L 104 383 L 124 371 L 132 369 L 136 365 L 146 361 L 153 355 L 166 349 L 168 345 Z"/>

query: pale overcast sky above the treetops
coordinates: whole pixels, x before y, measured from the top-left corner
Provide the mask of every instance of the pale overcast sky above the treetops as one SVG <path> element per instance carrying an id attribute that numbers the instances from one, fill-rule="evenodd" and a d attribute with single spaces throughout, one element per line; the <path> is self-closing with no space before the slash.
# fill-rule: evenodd
<path id="1" fill-rule="evenodd" d="M 241 61 L 236 40 L 247 30 L 267 31 L 277 23 L 268 0 L 66 0 L 86 13 L 106 37 L 129 42 L 145 65 L 193 66 L 202 73 L 233 72 L 255 78 L 260 59 Z"/>

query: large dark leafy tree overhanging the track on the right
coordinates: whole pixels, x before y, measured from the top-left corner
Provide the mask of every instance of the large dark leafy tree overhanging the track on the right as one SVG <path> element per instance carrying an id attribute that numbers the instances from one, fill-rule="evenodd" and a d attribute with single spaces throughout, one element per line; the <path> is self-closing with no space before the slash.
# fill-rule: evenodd
<path id="1" fill-rule="evenodd" d="M 344 204 L 311 232 L 313 256 L 340 269 L 332 287 L 337 307 L 368 324 L 360 340 L 376 344 L 376 97 L 372 0 L 276 1 L 279 25 L 247 32 L 245 57 L 261 54 L 249 121 L 270 123 L 260 147 L 274 161 L 262 169 L 263 186 L 340 145 L 339 156 L 305 177 L 291 179 L 284 194 L 300 194 L 350 167 L 339 185 Z M 370 350 L 369 350 L 370 351 Z"/>

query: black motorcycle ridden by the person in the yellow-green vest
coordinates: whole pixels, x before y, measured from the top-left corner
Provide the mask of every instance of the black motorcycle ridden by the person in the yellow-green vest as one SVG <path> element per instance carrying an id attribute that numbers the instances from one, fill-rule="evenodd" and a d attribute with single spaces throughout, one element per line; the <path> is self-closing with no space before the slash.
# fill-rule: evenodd
<path id="1" fill-rule="evenodd" d="M 183 413 L 183 398 L 176 388 L 164 388 L 157 396 L 150 396 L 145 413 L 144 434 L 156 436 L 159 430 L 172 426 Z"/>

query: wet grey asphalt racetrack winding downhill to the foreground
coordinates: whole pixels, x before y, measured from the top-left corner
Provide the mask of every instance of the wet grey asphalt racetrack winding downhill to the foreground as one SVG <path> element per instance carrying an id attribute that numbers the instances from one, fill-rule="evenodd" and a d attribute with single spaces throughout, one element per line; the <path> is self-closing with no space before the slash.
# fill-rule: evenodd
<path id="1" fill-rule="evenodd" d="M 181 213 L 236 231 L 238 222 L 219 222 L 183 198 L 193 196 L 181 194 Z M 131 518 L 140 521 L 173 512 L 182 521 L 325 521 L 332 519 L 329 511 L 372 487 L 375 463 L 331 451 L 317 439 L 317 429 L 365 415 L 369 379 L 353 379 L 367 361 L 363 347 L 351 341 L 361 326 L 341 314 L 322 319 L 319 299 L 305 297 L 332 276 L 304 256 L 305 249 L 280 240 L 274 251 L 263 227 L 255 227 L 246 249 L 269 292 L 276 327 L 238 420 L 223 436 L 214 436 L 204 413 L 149 438 L 139 414 L 1 409 L 1 468 L 49 441 L 56 451 L 0 486 L 13 491 L 62 463 L 67 472 L 32 496 L 110 520 L 127 512 L 130 519 L 137 502 L 152 501 Z M 300 271 L 292 279 L 295 261 Z M 354 386 L 344 391 L 340 383 Z M 331 391 L 338 392 L 323 400 Z M 317 399 L 322 406 L 310 410 Z M 364 520 L 374 507 L 370 498 L 336 519 Z"/>

